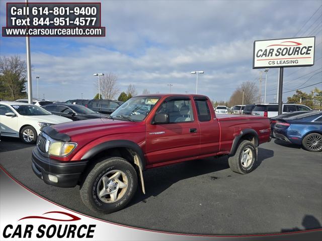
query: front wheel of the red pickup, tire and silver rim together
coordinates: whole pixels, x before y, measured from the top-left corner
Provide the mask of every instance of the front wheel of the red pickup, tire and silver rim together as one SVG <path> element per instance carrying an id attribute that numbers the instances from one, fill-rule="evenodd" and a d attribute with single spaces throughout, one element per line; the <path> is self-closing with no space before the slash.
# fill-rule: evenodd
<path id="1" fill-rule="evenodd" d="M 111 213 L 124 208 L 137 188 L 134 167 L 125 159 L 111 157 L 98 162 L 81 184 L 81 198 L 96 212 Z"/>

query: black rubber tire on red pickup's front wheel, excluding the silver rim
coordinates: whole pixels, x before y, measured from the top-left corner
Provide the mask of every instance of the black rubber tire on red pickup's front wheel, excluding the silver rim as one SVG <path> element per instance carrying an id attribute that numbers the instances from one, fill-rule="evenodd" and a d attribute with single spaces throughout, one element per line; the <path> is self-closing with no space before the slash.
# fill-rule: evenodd
<path id="1" fill-rule="evenodd" d="M 111 199 L 112 196 L 110 194 L 106 194 L 104 197 L 100 197 L 99 189 L 100 187 L 104 189 L 102 186 L 102 178 L 114 170 L 121 171 L 123 174 L 125 174 L 127 188 L 124 190 L 122 195 L 120 194 L 123 189 L 117 188 L 116 192 L 119 194 L 116 195 L 118 195 L 118 197 L 120 195 L 120 198 L 116 199 L 114 202 L 110 201 L 111 203 L 107 203 L 108 197 Z M 118 179 L 116 179 L 116 181 L 117 180 Z M 124 179 L 122 181 L 124 182 Z M 106 188 L 106 190 L 108 189 L 109 187 Z M 81 184 L 80 193 L 84 204 L 91 210 L 96 212 L 111 213 L 123 209 L 133 198 L 136 189 L 137 174 L 134 167 L 121 157 L 111 157 L 98 162 L 93 169 L 89 171 L 88 175 L 84 179 L 84 182 Z M 121 192 L 119 192 L 120 190 Z M 102 199 L 105 199 L 105 201 Z"/>

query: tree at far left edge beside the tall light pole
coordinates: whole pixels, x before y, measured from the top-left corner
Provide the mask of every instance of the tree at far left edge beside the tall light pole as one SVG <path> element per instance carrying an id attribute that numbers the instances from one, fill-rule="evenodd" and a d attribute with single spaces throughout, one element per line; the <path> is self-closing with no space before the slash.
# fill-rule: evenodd
<path id="1" fill-rule="evenodd" d="M 0 57 L 2 97 L 16 99 L 26 95 L 26 62 L 20 56 Z"/>

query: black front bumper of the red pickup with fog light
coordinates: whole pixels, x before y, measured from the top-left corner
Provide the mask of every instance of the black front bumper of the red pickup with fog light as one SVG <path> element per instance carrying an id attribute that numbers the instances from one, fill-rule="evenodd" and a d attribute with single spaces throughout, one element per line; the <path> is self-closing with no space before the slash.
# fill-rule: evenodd
<path id="1" fill-rule="evenodd" d="M 44 157 L 37 148 L 32 151 L 32 170 L 45 183 L 57 187 L 75 187 L 88 161 L 64 162 Z"/>

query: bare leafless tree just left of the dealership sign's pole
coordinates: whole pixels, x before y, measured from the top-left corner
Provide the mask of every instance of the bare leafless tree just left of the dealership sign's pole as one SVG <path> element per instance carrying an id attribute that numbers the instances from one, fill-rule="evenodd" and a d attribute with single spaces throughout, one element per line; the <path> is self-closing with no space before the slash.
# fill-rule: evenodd
<path id="1" fill-rule="evenodd" d="M 255 103 L 258 97 L 258 87 L 255 82 L 246 81 L 232 93 L 229 99 L 229 105 L 236 105 L 243 103 L 243 91 L 244 91 L 244 104 Z"/>

